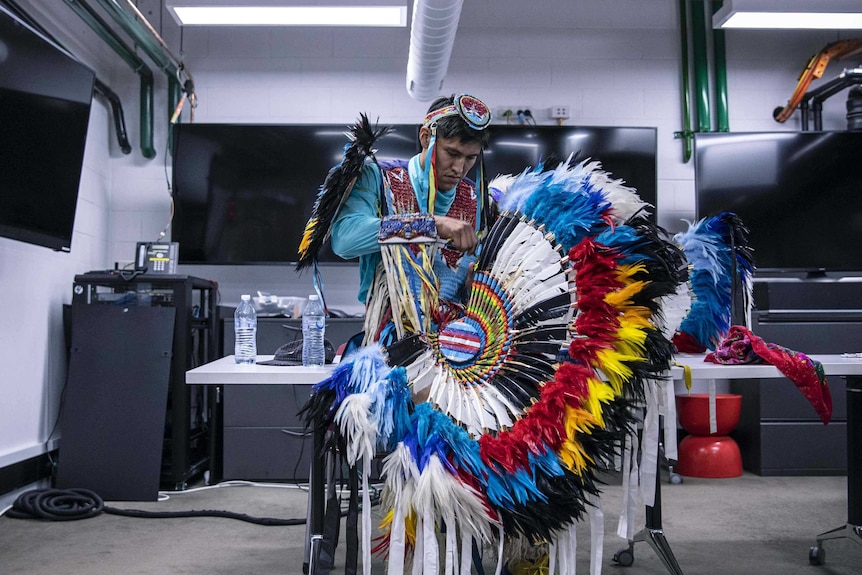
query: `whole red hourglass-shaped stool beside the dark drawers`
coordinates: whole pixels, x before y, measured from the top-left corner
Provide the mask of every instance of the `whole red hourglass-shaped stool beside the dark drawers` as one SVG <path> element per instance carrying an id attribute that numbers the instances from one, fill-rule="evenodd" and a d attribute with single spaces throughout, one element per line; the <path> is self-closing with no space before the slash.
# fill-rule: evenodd
<path id="1" fill-rule="evenodd" d="M 709 394 L 691 393 L 676 396 L 680 425 L 689 435 L 679 444 L 676 471 L 688 477 L 739 477 L 742 455 L 730 432 L 739 423 L 742 396 L 730 393 L 715 395 L 716 432 L 709 432 Z"/>

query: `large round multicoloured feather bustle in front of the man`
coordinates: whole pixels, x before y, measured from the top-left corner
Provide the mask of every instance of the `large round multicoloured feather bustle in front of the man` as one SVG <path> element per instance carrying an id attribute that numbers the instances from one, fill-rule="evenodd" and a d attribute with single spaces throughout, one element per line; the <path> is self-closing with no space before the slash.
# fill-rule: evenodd
<path id="1" fill-rule="evenodd" d="M 551 570 L 571 572 L 597 469 L 670 364 L 659 301 L 683 281 L 684 258 L 635 191 L 592 162 L 525 171 L 500 194 L 467 304 L 441 302 L 436 329 L 363 348 L 305 408 L 337 424 L 351 465 L 388 453 L 376 551 L 391 574 L 411 562 L 467 574 L 473 540 L 496 541 L 501 562 L 504 542 L 510 558 L 549 542 Z"/>

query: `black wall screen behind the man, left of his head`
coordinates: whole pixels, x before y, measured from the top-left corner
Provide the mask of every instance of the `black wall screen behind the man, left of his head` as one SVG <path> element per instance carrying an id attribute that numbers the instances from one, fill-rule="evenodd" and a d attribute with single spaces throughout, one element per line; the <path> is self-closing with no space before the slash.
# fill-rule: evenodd
<path id="1" fill-rule="evenodd" d="M 174 220 L 180 263 L 290 263 L 345 125 L 177 124 Z M 379 160 L 409 158 L 415 126 L 379 140 Z M 327 245 L 321 262 L 343 262 Z"/>

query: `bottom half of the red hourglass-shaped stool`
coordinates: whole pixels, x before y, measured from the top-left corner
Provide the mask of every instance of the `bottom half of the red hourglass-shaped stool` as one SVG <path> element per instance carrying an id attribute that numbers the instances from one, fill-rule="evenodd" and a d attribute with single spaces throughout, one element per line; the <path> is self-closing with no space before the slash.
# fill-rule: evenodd
<path id="1" fill-rule="evenodd" d="M 742 455 L 726 435 L 687 435 L 679 443 L 676 471 L 688 477 L 739 477 Z"/>

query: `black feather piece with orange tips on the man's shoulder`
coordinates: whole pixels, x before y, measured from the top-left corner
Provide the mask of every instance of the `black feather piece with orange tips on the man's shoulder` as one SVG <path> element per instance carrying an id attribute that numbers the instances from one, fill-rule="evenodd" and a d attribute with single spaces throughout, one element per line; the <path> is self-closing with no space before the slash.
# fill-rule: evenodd
<path id="1" fill-rule="evenodd" d="M 391 130 L 390 126 L 372 127 L 368 117 L 360 114 L 359 120 L 345 134 L 350 141 L 344 146 L 341 162 L 329 171 L 317 193 L 311 217 L 305 225 L 302 241 L 299 244 L 296 271 L 301 272 L 309 266 L 312 267 L 315 289 L 321 298 L 323 289 L 320 286 L 317 255 L 329 239 L 332 222 L 338 215 L 341 205 L 350 195 L 353 184 L 362 171 L 362 166 L 368 158 L 374 158 L 374 143 Z"/>

